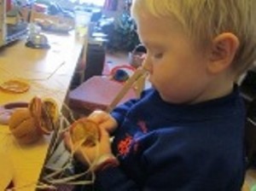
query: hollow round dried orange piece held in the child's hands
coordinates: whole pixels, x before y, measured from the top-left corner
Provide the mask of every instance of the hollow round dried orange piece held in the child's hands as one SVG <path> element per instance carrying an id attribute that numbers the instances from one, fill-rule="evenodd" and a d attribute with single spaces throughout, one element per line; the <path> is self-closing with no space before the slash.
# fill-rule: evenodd
<path id="1" fill-rule="evenodd" d="M 70 127 L 70 135 L 73 144 L 83 141 L 84 146 L 95 146 L 100 140 L 100 129 L 98 125 L 90 119 L 79 119 Z"/>

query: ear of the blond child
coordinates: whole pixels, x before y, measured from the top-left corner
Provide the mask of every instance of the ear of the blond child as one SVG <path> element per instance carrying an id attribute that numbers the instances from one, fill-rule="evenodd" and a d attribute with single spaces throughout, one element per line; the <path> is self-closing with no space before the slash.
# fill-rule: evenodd
<path id="1" fill-rule="evenodd" d="M 230 67 L 238 47 L 239 40 L 236 35 L 230 32 L 219 34 L 212 41 L 208 71 L 218 73 Z"/>

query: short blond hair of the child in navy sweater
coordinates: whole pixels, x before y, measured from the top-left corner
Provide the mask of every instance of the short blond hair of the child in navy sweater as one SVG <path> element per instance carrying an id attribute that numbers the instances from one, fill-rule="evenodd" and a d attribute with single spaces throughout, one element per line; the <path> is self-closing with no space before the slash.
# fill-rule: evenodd
<path id="1" fill-rule="evenodd" d="M 157 18 L 174 16 L 198 45 L 212 43 L 223 32 L 240 41 L 232 63 L 237 74 L 253 64 L 256 57 L 256 0 L 133 0 L 131 14 Z"/>

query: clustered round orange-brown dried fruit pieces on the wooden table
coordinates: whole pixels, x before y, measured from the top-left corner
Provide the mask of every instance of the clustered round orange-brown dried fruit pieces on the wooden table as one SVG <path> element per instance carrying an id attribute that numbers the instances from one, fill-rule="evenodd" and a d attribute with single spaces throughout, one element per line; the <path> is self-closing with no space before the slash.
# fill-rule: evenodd
<path id="1" fill-rule="evenodd" d="M 17 108 L 9 119 L 9 130 L 20 143 L 38 141 L 49 135 L 58 118 L 57 104 L 52 99 L 32 98 L 28 107 Z"/>

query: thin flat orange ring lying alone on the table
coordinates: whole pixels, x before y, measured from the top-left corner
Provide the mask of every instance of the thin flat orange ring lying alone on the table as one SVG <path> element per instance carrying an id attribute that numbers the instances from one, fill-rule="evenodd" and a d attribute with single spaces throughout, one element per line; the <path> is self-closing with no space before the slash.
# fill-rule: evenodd
<path id="1" fill-rule="evenodd" d="M 30 85 L 19 79 L 10 79 L 3 84 L 0 84 L 0 89 L 11 93 L 24 93 L 29 90 Z"/>

